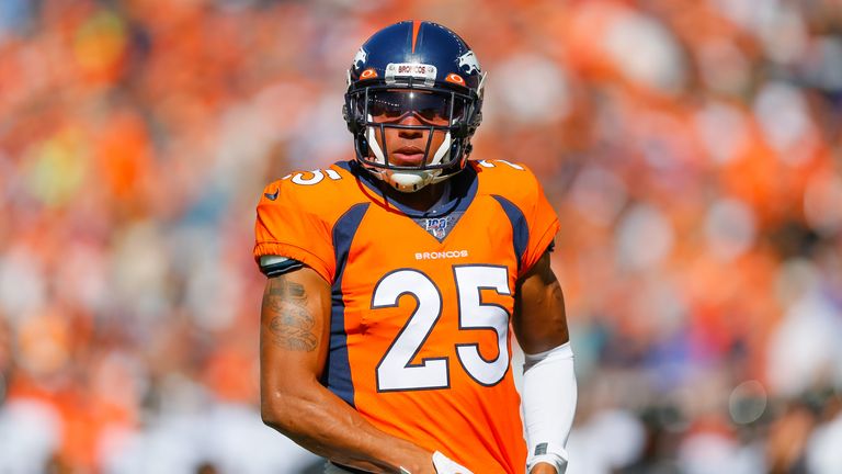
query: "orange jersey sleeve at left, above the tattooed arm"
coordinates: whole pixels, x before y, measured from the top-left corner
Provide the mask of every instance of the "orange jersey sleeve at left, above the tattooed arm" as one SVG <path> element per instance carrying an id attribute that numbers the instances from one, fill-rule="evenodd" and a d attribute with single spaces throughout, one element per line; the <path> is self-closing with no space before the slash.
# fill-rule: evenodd
<path id="1" fill-rule="evenodd" d="M 275 181 L 263 190 L 254 224 L 254 259 L 281 256 L 312 268 L 332 282 L 335 270 L 330 223 L 314 213 L 288 181 Z"/>

